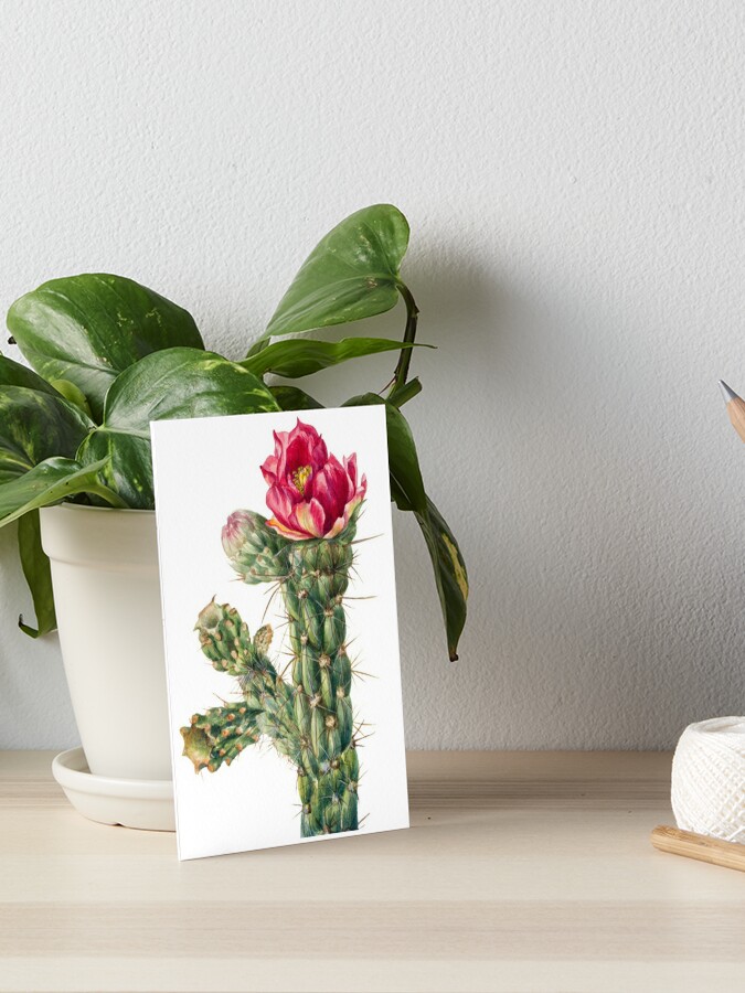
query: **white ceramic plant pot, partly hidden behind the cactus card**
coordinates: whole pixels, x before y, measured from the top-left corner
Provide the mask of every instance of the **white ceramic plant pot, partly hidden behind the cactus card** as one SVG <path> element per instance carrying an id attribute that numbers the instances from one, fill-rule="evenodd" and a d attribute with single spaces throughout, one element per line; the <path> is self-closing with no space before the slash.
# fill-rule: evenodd
<path id="1" fill-rule="evenodd" d="M 65 675 L 91 771 L 171 778 L 156 515 L 41 511 Z"/>

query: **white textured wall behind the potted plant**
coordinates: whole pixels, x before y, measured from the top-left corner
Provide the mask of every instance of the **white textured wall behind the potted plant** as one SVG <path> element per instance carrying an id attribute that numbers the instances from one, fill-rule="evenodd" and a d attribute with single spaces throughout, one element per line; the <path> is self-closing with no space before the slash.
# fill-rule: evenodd
<path id="1" fill-rule="evenodd" d="M 327 228 L 398 204 L 439 345 L 407 413 L 472 580 L 451 665 L 400 520 L 408 744 L 669 746 L 745 708 L 745 450 L 715 388 L 745 392 L 744 29 L 739 0 L 3 2 L 0 306 L 121 273 L 238 356 Z M 0 746 L 63 746 L 13 537 Z"/>

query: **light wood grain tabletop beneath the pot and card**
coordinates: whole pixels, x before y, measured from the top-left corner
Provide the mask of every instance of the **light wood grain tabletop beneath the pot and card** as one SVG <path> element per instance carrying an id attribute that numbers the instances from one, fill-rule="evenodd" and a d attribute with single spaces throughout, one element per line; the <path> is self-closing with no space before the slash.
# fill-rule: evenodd
<path id="1" fill-rule="evenodd" d="M 179 863 L 0 752 L 0 990 L 745 989 L 745 876 L 666 855 L 670 756 L 414 752 L 412 830 Z"/>

